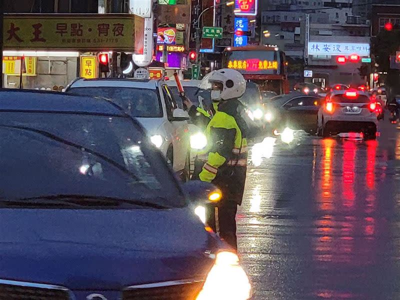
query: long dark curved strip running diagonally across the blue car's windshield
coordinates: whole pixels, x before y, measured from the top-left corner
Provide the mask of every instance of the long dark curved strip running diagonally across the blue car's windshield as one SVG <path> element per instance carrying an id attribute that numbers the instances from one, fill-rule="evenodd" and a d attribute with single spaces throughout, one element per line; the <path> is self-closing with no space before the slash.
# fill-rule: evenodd
<path id="1" fill-rule="evenodd" d="M 4 127 L 4 128 L 12 128 L 12 129 L 19 129 L 19 130 L 26 130 L 26 131 L 30 131 L 30 132 L 35 132 L 38 134 L 41 134 L 47 138 L 50 138 L 52 140 L 55 140 L 59 143 L 74 147 L 76 149 L 81 150 L 82 148 L 84 149 L 85 152 L 90 153 L 94 156 L 100 157 L 101 159 L 103 159 L 104 161 L 108 162 L 109 164 L 115 166 L 117 169 L 121 170 L 122 172 L 124 172 L 125 174 L 128 174 L 129 176 L 131 176 L 135 181 L 140 182 L 139 178 L 133 174 L 131 171 L 129 171 L 126 167 L 124 167 L 123 165 L 120 165 L 118 162 L 114 161 L 113 159 L 109 158 L 108 156 L 105 156 L 95 150 L 92 150 L 90 148 L 84 147 L 80 144 L 71 142 L 69 140 L 66 140 L 62 137 L 59 137 L 57 135 L 54 135 L 48 131 L 45 130 L 41 130 L 41 129 L 36 129 L 36 128 L 30 128 L 30 127 L 26 127 L 26 126 L 11 126 L 11 125 L 3 125 L 0 124 L 0 127 Z M 144 183 L 142 183 L 144 184 Z M 144 184 L 145 185 L 145 184 Z"/>

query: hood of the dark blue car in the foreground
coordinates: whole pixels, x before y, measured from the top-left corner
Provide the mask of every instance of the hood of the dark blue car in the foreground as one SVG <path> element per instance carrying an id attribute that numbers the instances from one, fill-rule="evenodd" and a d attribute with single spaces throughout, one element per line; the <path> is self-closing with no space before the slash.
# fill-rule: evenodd
<path id="1" fill-rule="evenodd" d="M 0 209 L 0 278 L 120 290 L 204 277 L 217 243 L 188 207 Z"/>

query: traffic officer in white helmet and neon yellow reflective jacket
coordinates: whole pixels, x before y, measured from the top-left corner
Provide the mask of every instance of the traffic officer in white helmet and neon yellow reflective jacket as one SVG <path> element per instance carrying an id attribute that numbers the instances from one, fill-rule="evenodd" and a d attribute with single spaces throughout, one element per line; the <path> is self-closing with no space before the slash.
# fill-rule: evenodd
<path id="1" fill-rule="evenodd" d="M 205 129 L 208 145 L 206 161 L 193 177 L 211 182 L 222 191 L 218 204 L 219 236 L 232 247 L 236 243 L 236 211 L 241 204 L 247 169 L 248 127 L 245 109 L 238 100 L 245 91 L 246 81 L 233 69 L 215 70 L 207 76 L 211 84 L 214 116 Z"/>

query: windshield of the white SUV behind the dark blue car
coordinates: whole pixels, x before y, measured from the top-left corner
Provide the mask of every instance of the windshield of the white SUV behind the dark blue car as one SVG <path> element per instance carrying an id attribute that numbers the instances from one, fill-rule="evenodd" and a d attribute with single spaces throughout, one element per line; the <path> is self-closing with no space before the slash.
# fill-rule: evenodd
<path id="1" fill-rule="evenodd" d="M 93 86 L 72 87 L 67 92 L 110 99 L 134 117 L 162 117 L 160 100 L 155 89 Z"/>

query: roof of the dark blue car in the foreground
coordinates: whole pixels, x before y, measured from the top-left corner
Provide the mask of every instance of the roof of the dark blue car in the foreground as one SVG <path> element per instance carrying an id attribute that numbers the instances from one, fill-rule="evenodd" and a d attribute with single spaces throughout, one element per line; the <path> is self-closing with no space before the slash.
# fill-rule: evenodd
<path id="1" fill-rule="evenodd" d="M 0 111 L 76 112 L 125 116 L 115 105 L 99 97 L 69 95 L 58 91 L 0 89 Z"/>

